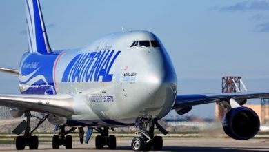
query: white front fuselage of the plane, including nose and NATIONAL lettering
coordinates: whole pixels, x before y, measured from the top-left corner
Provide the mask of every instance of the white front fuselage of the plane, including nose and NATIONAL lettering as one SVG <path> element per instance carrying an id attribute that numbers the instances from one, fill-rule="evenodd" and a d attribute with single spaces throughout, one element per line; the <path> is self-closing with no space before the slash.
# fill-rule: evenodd
<path id="1" fill-rule="evenodd" d="M 53 92 L 74 98 L 70 125 L 124 126 L 138 117 L 160 119 L 177 94 L 170 57 L 161 41 L 146 31 L 113 33 L 85 48 L 63 50 L 52 73 Z M 32 84 L 20 88 L 27 85 Z"/>

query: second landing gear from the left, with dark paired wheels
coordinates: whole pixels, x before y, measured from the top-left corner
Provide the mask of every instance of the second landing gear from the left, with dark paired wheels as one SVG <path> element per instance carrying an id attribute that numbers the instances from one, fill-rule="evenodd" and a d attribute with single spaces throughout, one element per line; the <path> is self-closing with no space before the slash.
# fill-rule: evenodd
<path id="1" fill-rule="evenodd" d="M 75 129 L 75 127 L 72 127 L 66 131 L 65 126 L 59 126 L 59 135 L 54 135 L 52 137 L 52 149 L 59 149 L 61 145 L 66 146 L 66 149 L 72 149 L 72 136 L 67 134 Z"/>

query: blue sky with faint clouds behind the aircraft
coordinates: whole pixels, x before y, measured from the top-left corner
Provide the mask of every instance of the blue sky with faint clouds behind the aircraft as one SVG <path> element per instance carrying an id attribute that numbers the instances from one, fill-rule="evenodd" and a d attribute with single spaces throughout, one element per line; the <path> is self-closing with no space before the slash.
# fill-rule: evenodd
<path id="1" fill-rule="evenodd" d="M 86 46 L 102 35 L 148 30 L 166 47 L 178 94 L 219 93 L 221 77 L 241 76 L 249 91 L 269 90 L 269 0 L 40 0 L 54 50 Z M 0 66 L 19 67 L 28 50 L 25 1 L 0 1 Z M 19 93 L 0 73 L 0 93 Z M 214 104 L 188 115 L 212 117 Z"/>

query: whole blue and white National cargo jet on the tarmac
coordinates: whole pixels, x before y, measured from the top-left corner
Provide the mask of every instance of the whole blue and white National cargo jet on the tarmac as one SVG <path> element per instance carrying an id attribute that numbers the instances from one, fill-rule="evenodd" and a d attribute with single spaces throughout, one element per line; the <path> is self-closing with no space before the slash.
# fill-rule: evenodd
<path id="1" fill-rule="evenodd" d="M 0 95 L 0 106 L 11 107 L 13 117 L 26 120 L 14 129 L 18 150 L 38 149 L 33 132 L 48 120 L 59 135 L 52 137 L 52 148 L 72 149 L 74 129 L 83 127 L 87 140 L 92 130 L 97 149 L 116 149 L 115 127 L 135 126 L 134 151 L 161 150 L 163 140 L 155 129 L 167 134 L 158 123 L 175 110 L 188 113 L 192 106 L 217 102 L 229 109 L 223 119 L 227 135 L 248 140 L 259 131 L 259 117 L 241 106 L 246 99 L 269 97 L 269 91 L 219 94 L 177 94 L 177 75 L 160 39 L 152 32 L 137 30 L 117 32 L 92 41 L 88 46 L 70 50 L 52 50 L 48 42 L 39 0 L 26 0 L 28 52 L 21 57 L 19 69 L 0 68 L 18 75 L 19 95 Z M 30 111 L 46 113 L 34 129 L 30 128 Z M 66 130 L 69 126 L 70 129 Z"/>

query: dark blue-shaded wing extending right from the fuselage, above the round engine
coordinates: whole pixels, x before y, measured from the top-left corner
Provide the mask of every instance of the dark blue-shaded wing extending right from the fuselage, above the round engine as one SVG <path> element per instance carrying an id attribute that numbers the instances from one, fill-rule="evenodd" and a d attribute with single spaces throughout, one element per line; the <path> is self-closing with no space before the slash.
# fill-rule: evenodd
<path id="1" fill-rule="evenodd" d="M 199 104 L 210 104 L 214 102 L 229 101 L 229 99 L 253 99 L 269 97 L 269 91 L 247 91 L 240 93 L 210 93 L 177 95 L 175 105 L 172 109 L 195 106 Z"/>

